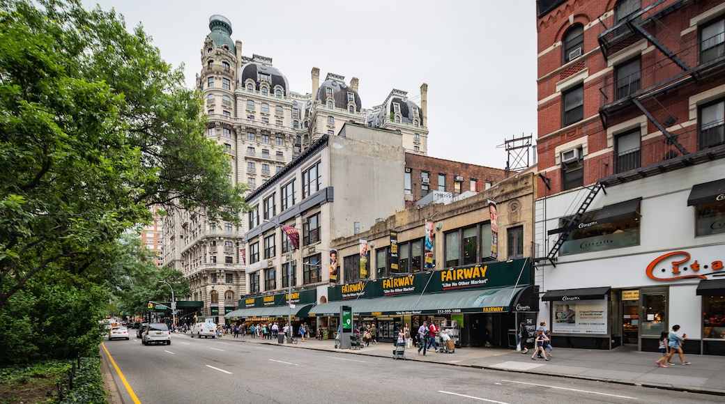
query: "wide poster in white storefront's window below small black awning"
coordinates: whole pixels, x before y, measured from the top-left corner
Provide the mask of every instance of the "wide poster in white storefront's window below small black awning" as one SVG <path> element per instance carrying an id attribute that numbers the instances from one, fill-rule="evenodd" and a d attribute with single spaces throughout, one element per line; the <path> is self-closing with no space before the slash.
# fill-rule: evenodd
<path id="1" fill-rule="evenodd" d="M 607 334 L 607 300 L 553 302 L 552 332 Z"/>

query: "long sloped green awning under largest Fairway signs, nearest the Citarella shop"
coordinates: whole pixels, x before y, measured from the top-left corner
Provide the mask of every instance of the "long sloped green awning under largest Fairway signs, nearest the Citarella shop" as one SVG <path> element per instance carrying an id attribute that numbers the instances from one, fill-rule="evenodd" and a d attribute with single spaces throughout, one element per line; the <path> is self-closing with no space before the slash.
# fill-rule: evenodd
<path id="1" fill-rule="evenodd" d="M 389 298 L 343 300 L 310 309 L 311 316 L 339 316 L 340 306 L 352 306 L 356 316 L 407 314 L 503 313 L 515 311 L 512 303 L 529 285 L 457 292 L 428 293 Z"/>

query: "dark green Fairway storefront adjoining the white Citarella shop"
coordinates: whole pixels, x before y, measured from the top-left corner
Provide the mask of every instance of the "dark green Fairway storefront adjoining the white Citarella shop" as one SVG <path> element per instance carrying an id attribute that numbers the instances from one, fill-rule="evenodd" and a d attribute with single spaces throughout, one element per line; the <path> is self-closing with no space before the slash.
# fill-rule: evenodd
<path id="1" fill-rule="evenodd" d="M 376 324 L 382 340 L 408 324 L 436 321 L 457 346 L 486 340 L 515 347 L 517 313 L 535 316 L 538 298 L 528 258 L 365 279 L 328 287 L 328 303 L 310 308 L 318 324 L 336 324 L 341 306 L 351 306 L 355 327 Z"/>

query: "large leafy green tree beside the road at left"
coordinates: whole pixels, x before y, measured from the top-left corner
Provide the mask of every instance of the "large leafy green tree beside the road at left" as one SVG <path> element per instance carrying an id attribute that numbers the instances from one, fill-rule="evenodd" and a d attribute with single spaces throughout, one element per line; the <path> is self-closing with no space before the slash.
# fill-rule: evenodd
<path id="1" fill-rule="evenodd" d="M 201 96 L 141 27 L 78 0 L 0 4 L 0 311 L 33 277 L 101 285 L 153 204 L 239 222 Z"/>

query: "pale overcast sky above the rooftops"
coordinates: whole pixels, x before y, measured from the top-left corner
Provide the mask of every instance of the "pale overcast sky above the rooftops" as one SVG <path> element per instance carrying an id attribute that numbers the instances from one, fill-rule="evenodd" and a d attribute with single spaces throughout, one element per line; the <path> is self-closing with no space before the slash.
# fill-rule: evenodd
<path id="1" fill-rule="evenodd" d="M 221 14 L 241 53 L 272 58 L 291 91 L 312 91 L 312 67 L 320 82 L 357 77 L 367 109 L 394 88 L 420 104 L 428 84 L 428 156 L 503 169 L 505 140 L 537 137 L 535 0 L 82 1 L 143 25 L 189 88 Z"/>

